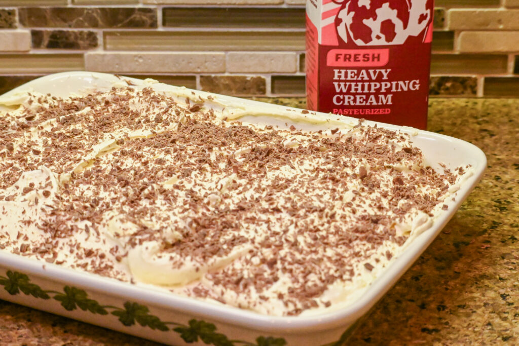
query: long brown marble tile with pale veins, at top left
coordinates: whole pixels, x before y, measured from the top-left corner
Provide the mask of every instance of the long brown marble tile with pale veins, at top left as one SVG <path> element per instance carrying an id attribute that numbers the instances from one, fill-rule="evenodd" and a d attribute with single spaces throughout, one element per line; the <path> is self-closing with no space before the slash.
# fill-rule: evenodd
<path id="1" fill-rule="evenodd" d="M 133 7 L 25 7 L 20 23 L 29 27 L 155 28 L 157 10 Z"/>

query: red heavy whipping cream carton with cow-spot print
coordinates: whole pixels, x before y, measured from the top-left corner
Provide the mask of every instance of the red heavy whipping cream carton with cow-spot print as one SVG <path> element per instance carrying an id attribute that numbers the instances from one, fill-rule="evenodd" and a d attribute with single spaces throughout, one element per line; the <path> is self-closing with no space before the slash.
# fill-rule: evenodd
<path id="1" fill-rule="evenodd" d="M 307 0 L 308 108 L 425 129 L 433 0 Z"/>

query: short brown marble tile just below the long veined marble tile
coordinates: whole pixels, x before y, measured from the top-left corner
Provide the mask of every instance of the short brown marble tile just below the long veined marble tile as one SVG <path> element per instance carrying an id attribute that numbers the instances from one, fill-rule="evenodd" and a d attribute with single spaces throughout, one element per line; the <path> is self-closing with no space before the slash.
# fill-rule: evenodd
<path id="1" fill-rule="evenodd" d="M 98 46 L 97 34 L 78 30 L 31 30 L 33 48 L 90 49 Z"/>

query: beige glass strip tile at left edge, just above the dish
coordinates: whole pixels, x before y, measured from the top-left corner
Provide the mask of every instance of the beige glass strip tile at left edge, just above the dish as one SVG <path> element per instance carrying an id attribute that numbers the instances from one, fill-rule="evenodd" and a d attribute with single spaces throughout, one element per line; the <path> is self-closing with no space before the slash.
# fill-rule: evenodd
<path id="1" fill-rule="evenodd" d="M 54 73 L 84 70 L 83 54 L 0 54 L 0 73 Z"/>

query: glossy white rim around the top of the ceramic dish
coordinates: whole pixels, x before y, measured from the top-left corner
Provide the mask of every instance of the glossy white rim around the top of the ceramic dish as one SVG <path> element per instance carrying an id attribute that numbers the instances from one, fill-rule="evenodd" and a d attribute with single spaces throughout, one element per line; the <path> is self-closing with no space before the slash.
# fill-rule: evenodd
<path id="1" fill-rule="evenodd" d="M 136 79 L 129 76 L 119 76 L 113 74 L 88 72 L 88 71 L 74 71 L 62 72 L 43 76 L 32 81 L 29 81 L 7 93 L 0 95 L 0 98 L 24 90 L 29 87 L 45 86 L 51 81 L 60 80 L 62 78 L 83 78 L 87 81 L 89 78 L 95 80 L 102 80 L 108 82 L 110 80 L 116 81 L 114 78 L 125 78 L 133 82 L 142 82 L 141 79 Z M 162 84 L 161 84 L 162 85 Z M 165 85 L 165 84 L 164 84 Z M 85 87 L 91 85 L 85 85 Z M 165 85 L 167 86 L 167 85 Z M 170 87 L 170 86 L 168 86 Z M 174 89 L 173 87 L 172 89 Z M 176 87 L 177 88 L 177 87 Z M 75 90 L 68 90 L 74 92 Z M 161 89 L 162 90 L 162 89 Z M 199 90 L 192 90 L 183 88 L 188 92 L 195 92 L 195 94 L 203 96 L 214 95 L 218 100 L 228 101 L 231 103 L 243 103 L 247 105 L 262 105 L 268 110 L 276 110 L 279 112 L 285 110 L 297 110 L 301 112 L 302 109 L 293 108 L 282 105 L 267 104 L 259 101 L 235 98 L 233 96 L 225 96 L 220 94 L 208 93 Z M 52 94 L 52 90 L 47 91 Z M 268 106 L 267 106 L 268 105 Z M 313 111 L 311 111 L 314 113 Z M 315 112 L 319 116 L 330 118 L 329 114 Z M 333 116 L 333 115 L 332 115 Z M 341 120 L 358 122 L 359 119 L 341 116 Z M 238 119 L 239 120 L 239 119 Z M 288 120 L 289 121 L 289 120 Z M 377 124 L 378 127 L 401 130 L 404 132 L 416 131 L 417 136 L 433 141 L 448 141 L 455 148 L 465 150 L 469 157 L 477 163 L 472 165 L 473 174 L 460 184 L 460 189 L 457 192 L 456 201 L 449 207 L 449 210 L 442 212 L 438 218 L 434 220 L 434 225 L 423 233 L 419 234 L 413 239 L 404 251 L 396 258 L 383 272 L 371 282 L 365 289 L 364 293 L 357 301 L 351 304 L 335 309 L 329 312 L 316 313 L 311 315 L 298 316 L 269 316 L 257 312 L 239 309 L 231 306 L 216 305 L 208 301 L 198 300 L 195 298 L 188 298 L 173 293 L 161 292 L 161 290 L 151 290 L 148 287 L 140 285 L 132 285 L 127 282 L 120 282 L 116 279 L 107 278 L 104 276 L 78 271 L 71 268 L 62 267 L 56 264 L 49 264 L 36 259 L 26 258 L 20 255 L 12 254 L 0 250 L 0 266 L 7 268 L 16 268 L 24 272 L 39 276 L 40 278 L 53 279 L 60 282 L 73 282 L 75 285 L 88 288 L 91 292 L 103 293 L 105 295 L 116 295 L 131 298 L 137 301 L 145 301 L 151 303 L 153 306 L 167 308 L 184 313 L 190 313 L 196 316 L 204 316 L 206 318 L 241 327 L 251 329 L 261 329 L 263 331 L 295 334 L 301 331 L 319 331 L 330 329 L 333 327 L 344 326 L 348 323 L 353 323 L 360 316 L 365 314 L 375 303 L 386 294 L 386 292 L 395 284 L 405 271 L 411 267 L 415 260 L 426 250 L 429 244 L 436 238 L 448 220 L 454 216 L 459 206 L 465 201 L 475 185 L 480 181 L 485 168 L 486 157 L 483 151 L 475 145 L 456 139 L 455 137 L 446 136 L 425 130 L 417 130 L 409 127 L 396 126 L 382 122 L 366 121 L 367 124 Z M 458 164 L 459 165 L 459 164 Z M 456 165 L 454 165 L 456 167 Z"/>

